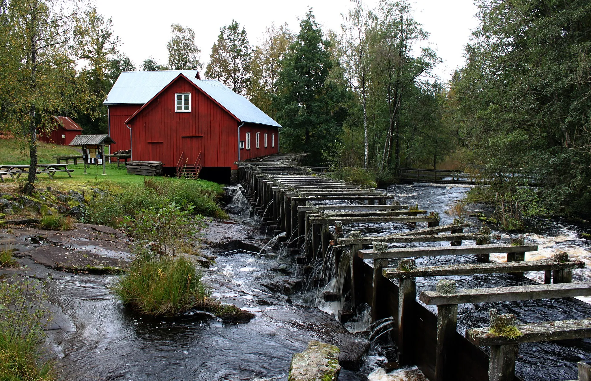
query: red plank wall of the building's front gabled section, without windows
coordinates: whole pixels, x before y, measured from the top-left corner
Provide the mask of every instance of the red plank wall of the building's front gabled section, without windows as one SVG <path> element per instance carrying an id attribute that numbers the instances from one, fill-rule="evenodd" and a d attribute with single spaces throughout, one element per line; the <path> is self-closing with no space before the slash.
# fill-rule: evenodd
<path id="1" fill-rule="evenodd" d="M 175 93 L 191 93 L 191 112 L 176 113 Z M 174 167 L 184 151 L 187 162 L 194 163 L 203 152 L 204 167 L 237 167 L 238 121 L 226 110 L 184 78 L 178 78 L 132 120 L 132 155 L 134 160 L 161 161 Z M 241 159 L 278 152 L 278 135 L 271 149 L 271 128 L 245 124 L 241 134 L 251 132 L 251 150 L 241 150 Z M 256 132 L 261 133 L 256 149 Z M 264 132 L 269 133 L 268 150 L 264 150 Z M 244 140 L 244 138 L 242 138 Z M 115 140 L 116 141 L 116 140 Z M 248 152 L 242 157 L 242 152 Z"/>

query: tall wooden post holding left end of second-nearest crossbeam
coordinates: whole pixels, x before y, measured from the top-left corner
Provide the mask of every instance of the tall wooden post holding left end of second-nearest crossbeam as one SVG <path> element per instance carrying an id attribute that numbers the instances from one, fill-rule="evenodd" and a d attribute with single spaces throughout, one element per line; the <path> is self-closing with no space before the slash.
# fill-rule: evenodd
<path id="1" fill-rule="evenodd" d="M 456 282 L 440 280 L 436 290 L 441 294 L 456 292 Z M 449 359 L 454 356 L 453 337 L 457 330 L 457 304 L 437 305 L 437 348 L 435 352 L 435 380 L 452 379 Z"/>

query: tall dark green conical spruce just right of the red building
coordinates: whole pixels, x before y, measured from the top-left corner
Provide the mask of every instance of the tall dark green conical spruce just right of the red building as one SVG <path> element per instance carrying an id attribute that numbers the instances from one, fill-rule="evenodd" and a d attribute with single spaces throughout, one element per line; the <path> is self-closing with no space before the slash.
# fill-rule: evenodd
<path id="1" fill-rule="evenodd" d="M 300 28 L 282 64 L 274 108 L 283 126 L 282 149 L 310 153 L 310 162 L 317 163 L 339 142 L 347 91 L 311 9 Z"/>

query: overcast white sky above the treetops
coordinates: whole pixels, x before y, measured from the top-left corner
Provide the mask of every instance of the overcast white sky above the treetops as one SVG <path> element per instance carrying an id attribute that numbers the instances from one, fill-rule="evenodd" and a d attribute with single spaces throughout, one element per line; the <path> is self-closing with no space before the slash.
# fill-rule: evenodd
<path id="1" fill-rule="evenodd" d="M 377 0 L 366 0 L 373 8 Z M 473 0 L 414 0 L 414 17 L 430 33 L 430 45 L 443 63 L 436 74 L 448 80 L 453 70 L 464 63 L 463 45 L 470 32 L 478 25 Z M 316 20 L 323 29 L 340 32 L 341 13 L 349 9 L 349 0 L 217 0 L 217 1 L 152 1 L 152 0 L 96 0 L 98 11 L 113 18 L 115 34 L 121 38 L 121 50 L 135 65 L 152 55 L 159 63 L 166 63 L 166 42 L 170 25 L 181 24 L 194 29 L 196 44 L 201 49 L 201 61 L 209 61 L 209 53 L 223 25 L 238 21 L 246 28 L 251 44 L 261 39 L 265 28 L 287 22 L 294 32 L 299 31 L 298 18 L 313 8 Z"/>

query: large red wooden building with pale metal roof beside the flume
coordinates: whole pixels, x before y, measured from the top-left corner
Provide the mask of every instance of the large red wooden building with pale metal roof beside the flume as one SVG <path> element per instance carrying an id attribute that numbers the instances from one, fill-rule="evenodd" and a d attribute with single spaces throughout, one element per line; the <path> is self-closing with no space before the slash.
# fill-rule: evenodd
<path id="1" fill-rule="evenodd" d="M 131 148 L 132 160 L 179 165 L 199 163 L 202 178 L 228 182 L 234 162 L 279 152 L 271 117 L 217 80 L 197 71 L 121 73 L 105 103 L 111 152 Z"/>

